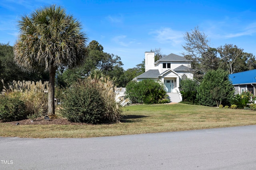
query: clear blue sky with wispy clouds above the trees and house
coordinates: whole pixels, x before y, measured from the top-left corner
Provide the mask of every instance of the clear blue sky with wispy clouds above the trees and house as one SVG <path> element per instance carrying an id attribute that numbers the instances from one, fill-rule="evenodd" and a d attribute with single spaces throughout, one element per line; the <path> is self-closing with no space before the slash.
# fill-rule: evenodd
<path id="1" fill-rule="evenodd" d="M 66 8 L 83 25 L 89 41 L 121 57 L 124 69 L 144 59 L 144 52 L 184 52 L 184 34 L 198 26 L 212 47 L 233 44 L 256 55 L 254 0 L 1 0 L 0 43 L 14 45 L 23 14 L 50 4 Z"/>

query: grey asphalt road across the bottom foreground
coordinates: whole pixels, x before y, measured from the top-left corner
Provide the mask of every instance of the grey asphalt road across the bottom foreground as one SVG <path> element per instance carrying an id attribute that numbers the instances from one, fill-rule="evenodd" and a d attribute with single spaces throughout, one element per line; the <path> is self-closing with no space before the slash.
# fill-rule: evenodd
<path id="1" fill-rule="evenodd" d="M 256 126 L 84 139 L 0 137 L 0 170 L 255 170 Z"/>

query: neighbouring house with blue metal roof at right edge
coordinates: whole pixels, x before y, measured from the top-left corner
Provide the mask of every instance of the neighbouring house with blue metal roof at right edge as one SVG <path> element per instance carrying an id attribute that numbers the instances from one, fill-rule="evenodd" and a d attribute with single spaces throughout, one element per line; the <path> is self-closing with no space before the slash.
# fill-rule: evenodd
<path id="1" fill-rule="evenodd" d="M 229 74 L 229 78 L 235 88 L 235 94 L 247 91 L 256 94 L 256 69 Z"/>

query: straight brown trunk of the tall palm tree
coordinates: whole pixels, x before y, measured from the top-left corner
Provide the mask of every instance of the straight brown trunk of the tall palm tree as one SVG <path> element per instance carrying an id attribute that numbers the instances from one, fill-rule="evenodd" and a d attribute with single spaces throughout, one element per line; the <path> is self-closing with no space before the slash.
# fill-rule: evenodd
<path id="1" fill-rule="evenodd" d="M 56 69 L 51 66 L 50 68 L 50 80 L 48 86 L 48 115 L 55 115 L 54 108 L 54 84 L 55 84 Z"/>

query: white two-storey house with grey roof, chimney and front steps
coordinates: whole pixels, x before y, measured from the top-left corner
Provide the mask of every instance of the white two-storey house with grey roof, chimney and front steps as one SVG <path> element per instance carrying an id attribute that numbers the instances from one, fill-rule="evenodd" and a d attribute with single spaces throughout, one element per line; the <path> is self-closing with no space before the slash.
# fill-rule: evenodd
<path id="1" fill-rule="evenodd" d="M 179 86 L 181 80 L 193 79 L 191 61 L 182 56 L 169 54 L 155 62 L 154 52 L 145 52 L 145 72 L 133 80 L 160 80 L 164 83 L 171 102 L 181 102 Z"/>

